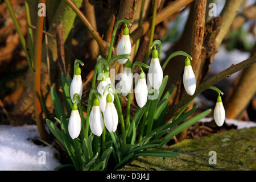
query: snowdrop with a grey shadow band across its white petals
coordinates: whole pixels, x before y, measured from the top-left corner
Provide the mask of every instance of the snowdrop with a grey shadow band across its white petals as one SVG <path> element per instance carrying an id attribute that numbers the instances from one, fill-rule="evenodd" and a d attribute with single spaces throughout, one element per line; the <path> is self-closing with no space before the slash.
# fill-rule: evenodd
<path id="1" fill-rule="evenodd" d="M 189 58 L 185 59 L 185 69 L 183 73 L 183 84 L 186 92 L 193 96 L 196 91 L 196 77 L 191 67 Z"/>

